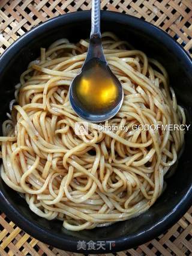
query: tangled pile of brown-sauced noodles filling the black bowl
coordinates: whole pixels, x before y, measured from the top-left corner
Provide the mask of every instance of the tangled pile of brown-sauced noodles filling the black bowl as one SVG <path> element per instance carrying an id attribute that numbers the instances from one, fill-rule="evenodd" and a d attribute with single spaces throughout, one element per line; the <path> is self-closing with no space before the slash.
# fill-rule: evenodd
<path id="1" fill-rule="evenodd" d="M 163 177 L 184 142 L 181 130 L 133 129 L 140 124 L 185 124 L 166 70 L 110 32 L 102 34 L 124 103 L 105 125 L 75 131 L 80 120 L 68 88 L 85 61 L 88 40 L 55 41 L 29 64 L 16 86 L 15 111 L 2 125 L 1 177 L 25 195 L 38 216 L 84 230 L 140 215 L 163 190 Z M 14 113 L 16 117 L 14 117 Z M 127 127 L 121 129 L 121 127 Z"/>

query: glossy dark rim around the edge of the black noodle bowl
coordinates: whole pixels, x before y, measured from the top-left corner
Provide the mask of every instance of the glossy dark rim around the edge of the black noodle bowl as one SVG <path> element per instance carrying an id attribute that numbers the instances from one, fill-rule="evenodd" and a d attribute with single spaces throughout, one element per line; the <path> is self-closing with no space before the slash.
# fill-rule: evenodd
<path id="1" fill-rule="evenodd" d="M 140 29 L 140 26 L 142 24 L 142 29 L 146 33 L 159 33 L 158 40 L 162 41 L 164 44 L 171 44 L 172 47 L 175 48 L 176 53 L 178 57 L 180 56 L 184 63 L 187 66 L 191 66 L 192 69 L 192 61 L 190 55 L 175 41 L 173 40 L 170 35 L 168 35 L 166 32 L 158 28 L 157 26 L 152 25 L 149 22 L 146 22 L 145 20 L 141 20 L 137 17 L 130 16 L 128 14 L 122 14 L 117 13 L 115 11 L 101 11 L 101 22 L 102 20 L 108 21 L 114 21 L 117 20 L 118 22 L 126 22 L 130 23 L 133 22 L 133 26 Z M 4 70 L 5 66 L 7 65 L 8 61 L 11 59 L 12 56 L 14 56 L 15 53 L 18 52 L 18 50 L 22 49 L 26 43 L 28 43 L 32 38 L 38 37 L 41 33 L 44 31 L 47 31 L 53 27 L 67 24 L 70 22 L 80 22 L 80 20 L 90 20 L 91 22 L 91 11 L 76 11 L 74 13 L 67 13 L 64 15 L 60 15 L 57 17 L 53 17 L 52 19 L 47 20 L 46 22 L 41 23 L 38 26 L 35 26 L 35 28 L 29 30 L 24 35 L 19 37 L 13 44 L 11 44 L 8 49 L 5 50 L 4 53 L 0 56 L 0 67 L 2 70 Z M 131 25 L 132 26 L 132 25 Z M 192 74 L 191 74 L 191 81 L 192 81 Z M 4 182 L 4 181 L 2 181 Z M 41 225 L 37 225 L 34 222 L 31 222 L 28 220 L 28 218 L 25 218 L 22 213 L 13 207 L 8 201 L 8 199 L 5 197 L 5 194 L 1 190 L 1 184 L 0 184 L 0 203 L 1 203 L 1 210 L 5 212 L 5 214 L 8 216 L 8 218 L 11 219 L 18 227 L 22 228 L 26 233 L 30 234 L 31 236 L 35 237 L 36 239 L 48 243 L 49 245 L 55 246 L 57 248 L 63 249 L 65 251 L 72 251 L 72 252 L 79 252 L 79 253 L 108 253 L 108 252 L 117 252 L 117 251 L 124 251 L 125 249 L 130 249 L 136 246 L 139 246 L 143 243 L 148 242 L 149 240 L 154 239 L 155 237 L 162 234 L 164 231 L 166 231 L 168 228 L 172 227 L 179 219 L 187 212 L 187 210 L 190 208 L 192 204 L 192 184 L 191 187 L 186 191 L 185 197 L 182 198 L 181 201 L 179 201 L 178 204 L 176 204 L 175 208 L 172 209 L 166 216 L 161 217 L 158 222 L 155 222 L 154 225 L 149 228 L 148 230 L 145 230 L 145 232 L 139 233 L 137 235 L 130 235 L 130 236 L 122 236 L 119 239 L 110 239 L 115 240 L 115 249 L 112 250 L 77 250 L 77 241 L 79 239 L 74 238 L 72 236 L 67 236 L 67 239 L 63 236 L 58 236 L 57 234 L 51 233 L 46 228 L 42 228 Z M 162 225 L 163 223 L 163 225 Z M 145 234 L 145 236 L 143 236 Z M 105 240 L 105 239 L 102 239 Z M 106 239 L 105 241 L 109 241 L 109 239 Z"/>

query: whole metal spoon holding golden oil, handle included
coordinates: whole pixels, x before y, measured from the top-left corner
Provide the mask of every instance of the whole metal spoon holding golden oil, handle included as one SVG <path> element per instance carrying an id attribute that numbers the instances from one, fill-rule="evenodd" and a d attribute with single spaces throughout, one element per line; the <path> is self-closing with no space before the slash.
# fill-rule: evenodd
<path id="1" fill-rule="evenodd" d="M 70 85 L 70 104 L 79 117 L 98 123 L 116 115 L 123 95 L 122 85 L 110 70 L 103 53 L 100 0 L 92 0 L 89 49 L 80 73 Z"/>

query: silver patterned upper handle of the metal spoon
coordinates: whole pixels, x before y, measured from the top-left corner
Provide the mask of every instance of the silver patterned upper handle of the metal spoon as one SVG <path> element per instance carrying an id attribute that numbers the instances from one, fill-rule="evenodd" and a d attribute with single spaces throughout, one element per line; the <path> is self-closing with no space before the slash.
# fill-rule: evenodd
<path id="1" fill-rule="evenodd" d="M 92 0 L 91 7 L 91 35 L 101 37 L 100 31 L 100 0 Z"/>

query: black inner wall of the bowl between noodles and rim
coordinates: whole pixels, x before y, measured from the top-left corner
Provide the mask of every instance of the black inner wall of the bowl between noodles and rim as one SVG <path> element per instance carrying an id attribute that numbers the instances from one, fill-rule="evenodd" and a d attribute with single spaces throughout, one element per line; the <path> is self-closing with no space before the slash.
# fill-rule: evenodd
<path id="1" fill-rule="evenodd" d="M 90 22 L 84 20 L 82 22 L 73 22 L 68 25 L 59 25 L 58 28 L 50 29 L 46 32 L 38 34 L 37 38 L 32 40 L 22 47 L 22 50 L 15 53 L 14 58 L 8 62 L 6 69 L 1 73 L 0 78 L 0 120 L 1 123 L 5 120 L 5 112 L 8 111 L 8 105 L 10 100 L 14 99 L 14 85 L 19 82 L 20 74 L 28 67 L 28 63 L 37 56 L 40 55 L 40 47 L 47 47 L 53 41 L 59 38 L 68 38 L 70 41 L 77 42 L 80 38 L 88 38 L 90 31 Z M 176 91 L 178 102 L 185 106 L 188 112 L 188 117 L 191 116 L 192 106 L 192 90 L 189 71 L 182 63 L 179 57 L 176 57 L 174 49 L 170 46 L 167 47 L 161 43 L 158 43 L 157 37 L 160 35 L 150 35 L 139 31 L 134 28 L 134 24 L 127 26 L 124 22 L 116 22 L 102 20 L 101 16 L 101 31 L 111 31 L 119 36 L 122 40 L 127 40 L 133 44 L 136 49 L 143 50 L 149 57 L 155 58 L 166 67 L 169 73 L 170 84 Z M 156 37 L 156 39 L 155 39 Z M 191 120 L 188 120 L 191 123 Z M 142 216 L 138 216 L 133 220 L 119 222 L 106 228 L 95 228 L 94 230 L 84 230 L 80 232 L 67 231 L 62 228 L 62 222 L 60 221 L 47 221 L 40 218 L 29 210 L 25 201 L 20 196 L 3 185 L 4 194 L 7 195 L 8 200 L 13 206 L 17 207 L 23 215 L 29 219 L 29 221 L 40 225 L 42 228 L 46 228 L 59 236 L 61 234 L 67 234 L 73 237 L 77 237 L 81 240 L 107 240 L 115 239 L 122 236 L 131 236 L 134 234 L 140 234 L 143 230 L 150 229 L 154 223 L 162 220 L 168 212 L 175 210 L 174 208 L 179 201 L 182 200 L 186 191 L 191 185 L 191 163 L 190 157 L 190 141 L 192 141 L 192 133 L 187 133 L 185 136 L 185 150 L 179 159 L 178 168 L 173 177 L 166 180 L 167 189 L 157 202 L 148 212 L 143 213 Z M 185 163 L 185 164 L 184 164 Z"/>

